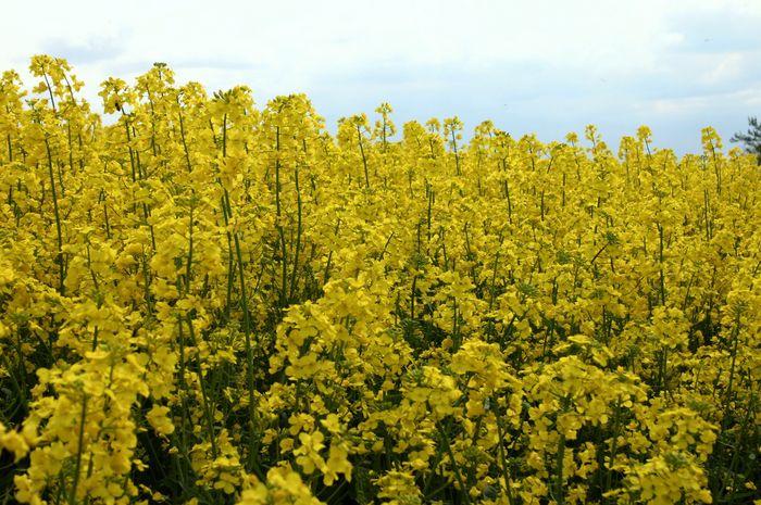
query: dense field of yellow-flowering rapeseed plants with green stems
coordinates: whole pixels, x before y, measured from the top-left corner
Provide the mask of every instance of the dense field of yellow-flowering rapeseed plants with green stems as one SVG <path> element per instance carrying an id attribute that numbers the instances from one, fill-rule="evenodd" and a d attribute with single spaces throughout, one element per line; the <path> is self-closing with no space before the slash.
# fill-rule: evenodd
<path id="1" fill-rule="evenodd" d="M 761 503 L 761 169 L 0 80 L 0 504 Z M 696 129 L 697 131 L 697 129 Z"/>

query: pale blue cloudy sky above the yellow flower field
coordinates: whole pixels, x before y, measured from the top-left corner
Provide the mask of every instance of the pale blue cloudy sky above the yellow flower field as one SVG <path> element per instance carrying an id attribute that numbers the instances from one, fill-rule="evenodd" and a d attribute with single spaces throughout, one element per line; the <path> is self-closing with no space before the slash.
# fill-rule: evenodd
<path id="1" fill-rule="evenodd" d="M 382 102 L 392 119 L 457 115 L 561 140 L 594 124 L 615 149 L 648 125 L 656 147 L 700 152 L 761 116 L 760 0 L 3 0 L 0 72 L 65 58 L 99 84 L 165 62 L 258 106 L 304 92 L 328 129 Z"/>

